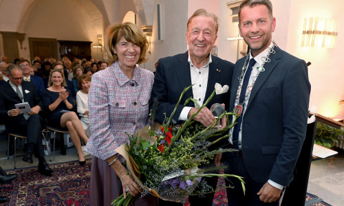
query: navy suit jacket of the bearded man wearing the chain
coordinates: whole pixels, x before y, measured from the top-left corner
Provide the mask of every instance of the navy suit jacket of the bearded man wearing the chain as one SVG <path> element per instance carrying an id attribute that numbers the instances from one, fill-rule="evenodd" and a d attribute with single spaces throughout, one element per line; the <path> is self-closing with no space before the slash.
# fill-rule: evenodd
<path id="1" fill-rule="evenodd" d="M 288 186 L 307 130 L 310 82 L 304 60 L 275 47 L 250 93 L 242 119 L 241 149 L 251 178 Z M 230 110 L 245 58 L 235 63 Z"/>

